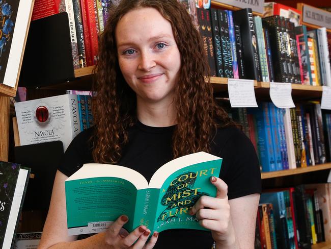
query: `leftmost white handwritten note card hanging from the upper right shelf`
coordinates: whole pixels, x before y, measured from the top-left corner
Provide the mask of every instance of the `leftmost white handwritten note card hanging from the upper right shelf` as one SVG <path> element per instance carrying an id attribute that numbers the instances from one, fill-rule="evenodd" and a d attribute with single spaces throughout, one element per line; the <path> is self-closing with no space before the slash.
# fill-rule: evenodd
<path id="1" fill-rule="evenodd" d="M 253 80 L 228 79 L 228 91 L 231 107 L 258 107 Z"/>

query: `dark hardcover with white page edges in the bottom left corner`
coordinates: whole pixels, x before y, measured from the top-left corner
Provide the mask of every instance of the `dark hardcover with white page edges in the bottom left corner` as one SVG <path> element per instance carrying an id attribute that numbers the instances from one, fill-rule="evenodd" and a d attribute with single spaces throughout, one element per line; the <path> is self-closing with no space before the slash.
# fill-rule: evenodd
<path id="1" fill-rule="evenodd" d="M 0 161 L 0 246 L 13 248 L 30 169 Z"/>

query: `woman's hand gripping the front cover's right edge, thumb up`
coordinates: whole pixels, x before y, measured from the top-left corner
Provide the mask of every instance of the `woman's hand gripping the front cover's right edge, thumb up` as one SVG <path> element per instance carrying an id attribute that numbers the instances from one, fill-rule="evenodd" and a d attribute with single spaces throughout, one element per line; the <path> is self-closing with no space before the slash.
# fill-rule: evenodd
<path id="1" fill-rule="evenodd" d="M 231 223 L 230 205 L 228 201 L 227 184 L 216 177 L 211 177 L 210 182 L 217 188 L 216 197 L 201 196 L 189 211 L 196 215 L 202 227 L 211 230 L 216 244 L 235 244 L 235 232 Z"/>

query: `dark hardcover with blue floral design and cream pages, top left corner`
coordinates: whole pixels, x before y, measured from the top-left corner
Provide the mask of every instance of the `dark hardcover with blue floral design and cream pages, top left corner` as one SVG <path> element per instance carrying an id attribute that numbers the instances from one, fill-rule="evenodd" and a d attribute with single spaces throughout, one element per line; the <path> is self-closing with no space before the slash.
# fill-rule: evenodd
<path id="1" fill-rule="evenodd" d="M 0 84 L 15 87 L 34 0 L 0 1 Z"/>

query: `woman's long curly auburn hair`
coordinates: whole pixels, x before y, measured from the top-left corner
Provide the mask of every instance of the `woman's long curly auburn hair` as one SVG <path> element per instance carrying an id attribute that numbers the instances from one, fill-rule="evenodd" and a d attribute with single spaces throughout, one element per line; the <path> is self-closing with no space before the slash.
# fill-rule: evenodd
<path id="1" fill-rule="evenodd" d="M 235 126 L 218 107 L 209 84 L 209 66 L 203 42 L 191 18 L 177 0 L 122 0 L 109 13 L 99 40 L 96 66 L 97 126 L 92 138 L 93 159 L 116 163 L 128 141 L 127 128 L 137 121 L 136 95 L 125 82 L 119 67 L 115 31 L 121 17 L 131 10 L 151 7 L 167 19 L 181 55 L 181 69 L 175 86 L 177 126 L 173 133 L 173 157 L 199 151 L 210 152 L 217 127 Z"/>

